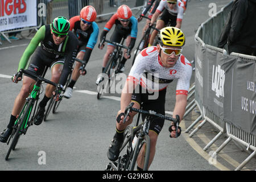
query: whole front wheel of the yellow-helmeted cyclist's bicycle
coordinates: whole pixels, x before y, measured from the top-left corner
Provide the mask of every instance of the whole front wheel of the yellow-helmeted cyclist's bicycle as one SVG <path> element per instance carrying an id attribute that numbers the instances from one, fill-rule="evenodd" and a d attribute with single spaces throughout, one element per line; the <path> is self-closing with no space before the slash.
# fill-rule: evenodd
<path id="1" fill-rule="evenodd" d="M 138 159 L 138 156 L 140 158 Z M 147 171 L 150 158 L 150 137 L 145 135 L 143 138 L 139 138 L 134 149 L 133 160 L 131 161 L 130 170 L 134 170 L 135 163 L 137 162 L 143 166 L 143 171 Z"/>

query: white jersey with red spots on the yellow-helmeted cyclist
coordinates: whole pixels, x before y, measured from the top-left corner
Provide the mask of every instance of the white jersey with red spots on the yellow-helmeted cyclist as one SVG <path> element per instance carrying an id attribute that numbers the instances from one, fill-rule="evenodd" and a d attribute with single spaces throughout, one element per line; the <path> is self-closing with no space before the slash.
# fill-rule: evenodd
<path id="1" fill-rule="evenodd" d="M 148 90 L 160 91 L 165 89 L 171 80 L 178 79 L 176 95 L 187 95 L 191 74 L 192 66 L 185 56 L 180 55 L 174 67 L 166 68 L 160 61 L 157 47 L 151 46 L 143 49 L 136 57 L 127 80 L 133 80 L 135 84 L 139 83 Z"/>

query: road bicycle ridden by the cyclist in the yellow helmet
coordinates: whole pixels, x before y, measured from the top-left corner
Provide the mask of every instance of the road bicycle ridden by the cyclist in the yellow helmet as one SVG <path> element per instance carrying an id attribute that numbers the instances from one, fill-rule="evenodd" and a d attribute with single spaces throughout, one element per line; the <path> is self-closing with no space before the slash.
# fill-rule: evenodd
<path id="1" fill-rule="evenodd" d="M 167 117 L 152 110 L 146 111 L 142 109 L 136 109 L 133 107 L 133 105 L 134 103 L 132 102 L 129 106 L 126 107 L 125 118 L 123 121 L 126 121 L 126 118 L 131 111 L 135 111 L 138 113 L 135 125 L 134 127 L 128 126 L 126 128 L 124 132 L 125 140 L 119 150 L 119 154 L 122 152 L 122 155 L 119 156 L 118 160 L 115 162 L 110 162 L 106 166 L 106 171 L 133 171 L 142 147 L 144 147 L 144 153 L 142 155 L 143 171 L 148 170 L 148 163 L 150 158 L 150 137 L 148 133 L 150 122 L 154 121 L 156 118 L 167 119 L 174 122 L 174 125 L 176 126 L 177 137 L 179 115 L 176 115 L 176 118 Z M 140 114 L 145 114 L 146 118 L 144 121 L 142 121 L 142 123 L 139 124 Z"/>

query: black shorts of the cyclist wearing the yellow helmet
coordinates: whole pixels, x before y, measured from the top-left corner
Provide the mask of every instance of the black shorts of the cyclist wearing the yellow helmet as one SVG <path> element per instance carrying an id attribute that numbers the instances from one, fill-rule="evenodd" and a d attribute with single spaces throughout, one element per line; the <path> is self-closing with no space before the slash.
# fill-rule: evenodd
<path id="1" fill-rule="evenodd" d="M 166 104 L 166 89 L 160 90 L 158 92 L 158 98 L 156 100 L 150 100 L 150 96 L 154 96 L 155 93 L 148 93 L 148 90 L 139 86 L 139 93 L 133 92 L 131 97 L 132 102 L 137 102 L 142 110 L 154 110 L 156 113 L 165 115 L 165 104 Z M 137 89 L 138 90 L 138 89 Z M 144 120 L 146 115 L 142 114 L 142 119 Z M 159 135 L 164 125 L 164 119 L 156 118 L 154 121 L 150 123 L 150 130 L 154 131 L 157 135 Z"/>

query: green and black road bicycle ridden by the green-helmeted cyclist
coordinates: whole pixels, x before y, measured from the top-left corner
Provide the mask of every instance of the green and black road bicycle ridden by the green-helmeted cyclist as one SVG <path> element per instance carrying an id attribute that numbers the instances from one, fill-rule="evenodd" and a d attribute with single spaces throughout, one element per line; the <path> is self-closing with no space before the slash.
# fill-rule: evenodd
<path id="1" fill-rule="evenodd" d="M 18 72 L 18 75 L 16 76 L 16 79 L 18 77 L 22 77 L 23 73 L 35 78 L 36 83 L 34 85 L 32 92 L 30 93 L 30 95 L 26 98 L 26 103 L 24 104 L 22 111 L 18 115 L 18 118 L 16 119 L 14 126 L 13 126 L 13 131 L 12 131 L 9 139 L 7 140 L 7 145 L 9 145 L 10 141 L 11 141 L 11 144 L 10 144 L 9 150 L 6 154 L 5 160 L 8 160 L 11 150 L 15 150 L 15 147 L 16 147 L 16 144 L 18 143 L 20 135 L 22 135 L 22 134 L 25 135 L 27 133 L 28 127 L 33 125 L 33 121 L 35 119 L 36 108 L 37 108 L 36 106 L 38 104 L 42 82 L 46 82 L 47 84 L 56 86 L 56 89 L 59 89 L 59 90 L 61 89 L 59 84 L 56 84 L 55 82 L 52 82 L 52 81 L 47 80 L 46 78 L 43 78 L 45 76 L 46 72 L 44 72 L 43 76 L 41 77 L 41 76 L 34 75 L 33 73 L 28 72 L 24 69 L 20 69 L 20 71 Z M 33 113 L 33 111 L 34 111 L 34 113 Z"/>

